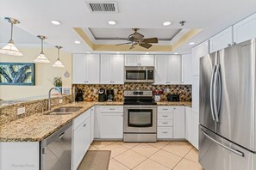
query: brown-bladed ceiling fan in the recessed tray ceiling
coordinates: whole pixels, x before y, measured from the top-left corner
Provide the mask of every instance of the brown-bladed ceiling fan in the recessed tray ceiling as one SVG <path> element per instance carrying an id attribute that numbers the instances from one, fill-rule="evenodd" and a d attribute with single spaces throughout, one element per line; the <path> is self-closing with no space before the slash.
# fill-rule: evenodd
<path id="1" fill-rule="evenodd" d="M 130 50 L 133 49 L 137 45 L 149 49 L 151 46 L 153 46 L 149 43 L 158 43 L 159 42 L 158 38 L 143 39 L 144 35 L 142 35 L 141 33 L 138 33 L 140 28 L 133 28 L 133 30 L 134 30 L 134 33 L 130 34 L 128 36 L 128 38 L 126 39 L 130 42 L 118 44 L 116 46 L 131 44 L 132 46 L 129 48 Z"/>

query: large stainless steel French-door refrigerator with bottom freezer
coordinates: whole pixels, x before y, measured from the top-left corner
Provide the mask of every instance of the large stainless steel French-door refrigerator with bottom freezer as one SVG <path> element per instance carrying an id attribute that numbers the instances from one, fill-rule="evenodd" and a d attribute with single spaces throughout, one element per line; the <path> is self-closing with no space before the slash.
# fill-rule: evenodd
<path id="1" fill-rule="evenodd" d="M 255 39 L 200 58 L 199 162 L 256 169 Z"/>

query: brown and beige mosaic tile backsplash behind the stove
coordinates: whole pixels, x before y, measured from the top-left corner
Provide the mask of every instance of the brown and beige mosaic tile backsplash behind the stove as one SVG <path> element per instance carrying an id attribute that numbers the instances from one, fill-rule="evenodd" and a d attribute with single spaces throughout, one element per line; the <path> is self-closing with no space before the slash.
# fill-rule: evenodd
<path id="1" fill-rule="evenodd" d="M 179 94 L 180 101 L 191 101 L 192 85 L 153 85 L 148 83 L 125 83 L 125 84 L 74 84 L 73 87 L 81 88 L 84 91 L 84 100 L 92 99 L 97 101 L 99 88 L 114 89 L 115 101 L 123 100 L 123 91 L 130 89 L 162 89 L 161 101 L 166 101 L 168 94 Z M 97 93 L 95 93 L 97 92 Z"/>

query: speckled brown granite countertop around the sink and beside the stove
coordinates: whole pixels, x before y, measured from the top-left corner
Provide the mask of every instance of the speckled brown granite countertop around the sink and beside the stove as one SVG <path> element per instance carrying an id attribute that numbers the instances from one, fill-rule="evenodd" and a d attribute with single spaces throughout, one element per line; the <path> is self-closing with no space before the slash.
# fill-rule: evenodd
<path id="1" fill-rule="evenodd" d="M 0 126 L 0 142 L 39 142 L 50 136 L 59 128 L 68 124 L 72 119 L 96 105 L 123 105 L 122 101 L 96 102 L 84 101 L 70 103 L 65 106 L 83 106 L 78 112 L 68 115 L 46 115 L 47 112 L 37 113 L 25 118 L 19 118 Z M 191 102 L 158 102 L 159 106 L 191 106 Z"/>

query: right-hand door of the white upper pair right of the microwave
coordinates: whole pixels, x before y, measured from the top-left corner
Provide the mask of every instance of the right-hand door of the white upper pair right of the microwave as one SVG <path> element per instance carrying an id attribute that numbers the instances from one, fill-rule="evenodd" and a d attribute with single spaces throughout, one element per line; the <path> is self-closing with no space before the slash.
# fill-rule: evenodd
<path id="1" fill-rule="evenodd" d="M 167 63 L 167 84 L 179 84 L 181 82 L 181 56 L 170 55 Z"/>

